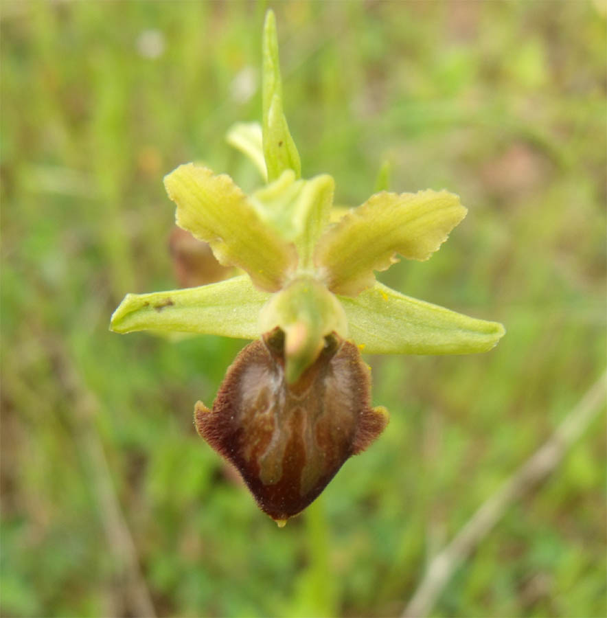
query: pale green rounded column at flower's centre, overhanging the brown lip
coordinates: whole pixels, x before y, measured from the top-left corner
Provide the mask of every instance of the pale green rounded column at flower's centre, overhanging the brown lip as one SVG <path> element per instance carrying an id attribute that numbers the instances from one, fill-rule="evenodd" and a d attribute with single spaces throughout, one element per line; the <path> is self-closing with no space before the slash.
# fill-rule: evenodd
<path id="1" fill-rule="evenodd" d="M 347 331 L 345 313 L 335 295 L 314 279 L 297 279 L 273 295 L 260 314 L 260 330 L 279 326 L 285 334 L 285 374 L 289 383 L 314 361 L 325 345 L 325 336 Z"/>

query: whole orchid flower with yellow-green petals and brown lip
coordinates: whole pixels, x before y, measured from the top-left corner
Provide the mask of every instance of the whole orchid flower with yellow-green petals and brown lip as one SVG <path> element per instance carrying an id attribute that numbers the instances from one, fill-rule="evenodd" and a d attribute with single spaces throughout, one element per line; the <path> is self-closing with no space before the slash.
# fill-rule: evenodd
<path id="1" fill-rule="evenodd" d="M 388 422 L 370 405 L 368 354 L 486 352 L 504 328 L 402 295 L 374 271 L 396 254 L 427 260 L 466 216 L 455 194 L 382 191 L 332 222 L 334 180 L 301 178 L 282 106 L 277 35 L 263 36 L 262 126 L 237 124 L 228 140 L 266 184 L 245 194 L 226 174 L 186 163 L 165 176 L 176 223 L 244 274 L 128 294 L 111 330 L 190 332 L 252 339 L 227 370 L 212 409 L 194 420 L 238 468 L 258 505 L 284 525 L 345 460 Z"/>

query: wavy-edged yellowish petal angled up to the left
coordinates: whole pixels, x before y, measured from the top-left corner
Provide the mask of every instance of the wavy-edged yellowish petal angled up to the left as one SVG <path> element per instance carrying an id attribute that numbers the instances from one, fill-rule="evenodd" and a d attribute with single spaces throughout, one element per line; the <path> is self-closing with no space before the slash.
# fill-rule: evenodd
<path id="1" fill-rule="evenodd" d="M 262 223 L 247 196 L 227 174 L 187 163 L 165 176 L 177 205 L 176 222 L 208 242 L 224 266 L 240 266 L 262 290 L 279 290 L 297 263 L 295 247 Z"/>

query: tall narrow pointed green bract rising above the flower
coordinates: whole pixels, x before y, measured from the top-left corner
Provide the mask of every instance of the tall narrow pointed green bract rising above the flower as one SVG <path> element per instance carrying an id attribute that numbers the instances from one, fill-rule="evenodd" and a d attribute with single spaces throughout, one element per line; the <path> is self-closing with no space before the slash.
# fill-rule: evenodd
<path id="1" fill-rule="evenodd" d="M 299 152 L 289 133 L 286 117 L 282 111 L 282 80 L 276 20 L 271 10 L 268 10 L 266 23 L 264 23 L 262 54 L 262 117 L 268 180 L 277 179 L 284 170 L 293 170 L 295 176 L 299 178 L 301 176 Z"/>

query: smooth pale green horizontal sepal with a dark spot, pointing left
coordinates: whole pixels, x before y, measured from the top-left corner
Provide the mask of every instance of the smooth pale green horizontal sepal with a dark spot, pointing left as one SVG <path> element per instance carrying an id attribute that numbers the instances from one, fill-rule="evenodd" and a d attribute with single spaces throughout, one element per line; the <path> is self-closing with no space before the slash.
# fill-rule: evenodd
<path id="1" fill-rule="evenodd" d="M 110 330 L 196 332 L 256 339 L 260 310 L 270 295 L 257 290 L 247 275 L 208 286 L 127 294 L 115 310 Z"/>

